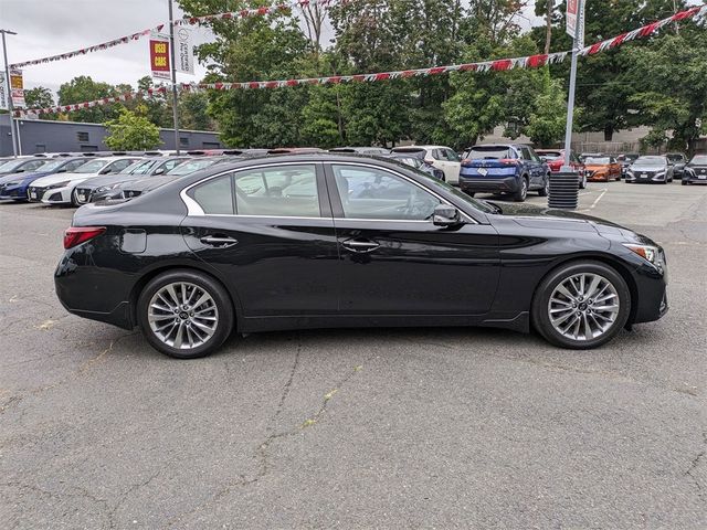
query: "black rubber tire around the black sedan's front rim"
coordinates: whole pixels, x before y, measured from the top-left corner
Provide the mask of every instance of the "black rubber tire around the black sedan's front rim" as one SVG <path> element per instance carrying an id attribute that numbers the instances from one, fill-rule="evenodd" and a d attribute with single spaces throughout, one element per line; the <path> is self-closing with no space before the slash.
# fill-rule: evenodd
<path id="1" fill-rule="evenodd" d="M 608 280 L 619 297 L 615 320 L 601 335 L 592 339 L 572 339 L 558 331 L 550 321 L 550 297 L 556 287 L 577 274 L 594 274 Z M 572 309 L 571 311 L 573 311 Z M 579 310 L 578 310 L 579 312 Z M 623 328 L 631 314 L 631 292 L 623 277 L 601 262 L 571 262 L 550 272 L 537 287 L 532 299 L 531 319 L 536 330 L 550 343 L 572 350 L 589 350 L 609 342 Z"/>

